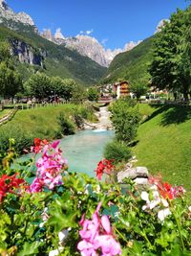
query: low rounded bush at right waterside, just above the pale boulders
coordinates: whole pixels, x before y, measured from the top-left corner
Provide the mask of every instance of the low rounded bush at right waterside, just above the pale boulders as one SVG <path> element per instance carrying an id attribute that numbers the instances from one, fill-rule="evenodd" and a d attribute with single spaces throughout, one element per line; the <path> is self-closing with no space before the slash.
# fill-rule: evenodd
<path id="1" fill-rule="evenodd" d="M 117 164 L 121 161 L 128 161 L 131 157 L 130 149 L 122 142 L 112 141 L 109 142 L 103 152 L 106 159 L 114 159 L 114 163 Z"/>

